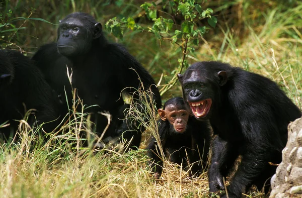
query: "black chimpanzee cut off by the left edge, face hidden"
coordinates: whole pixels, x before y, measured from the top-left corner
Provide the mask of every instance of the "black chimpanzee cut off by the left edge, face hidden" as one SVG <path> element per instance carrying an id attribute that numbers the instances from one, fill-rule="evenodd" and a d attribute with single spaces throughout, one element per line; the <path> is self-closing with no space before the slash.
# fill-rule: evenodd
<path id="1" fill-rule="evenodd" d="M 59 116 L 51 87 L 33 61 L 13 50 L 0 50 L 0 128 L 5 139 L 14 136 L 19 120 L 26 111 L 34 109 L 28 123 L 43 124 L 46 132 L 52 132 Z M 17 121 L 16 121 L 17 120 Z M 52 122 L 50 122 L 52 121 Z"/>

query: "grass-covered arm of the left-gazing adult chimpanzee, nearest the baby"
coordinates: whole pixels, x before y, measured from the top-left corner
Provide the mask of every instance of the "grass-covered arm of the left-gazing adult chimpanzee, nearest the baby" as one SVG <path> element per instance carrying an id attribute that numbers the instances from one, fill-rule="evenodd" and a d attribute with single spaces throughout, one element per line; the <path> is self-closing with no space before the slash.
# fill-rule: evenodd
<path id="1" fill-rule="evenodd" d="M 117 130 L 117 133 L 120 134 L 123 139 L 126 139 L 127 142 L 129 142 L 132 138 L 130 147 L 135 149 L 135 147 L 138 147 L 140 144 L 141 133 L 145 130 L 145 128 L 141 124 L 141 119 L 137 119 L 137 117 L 140 115 L 137 115 L 135 112 L 133 113 L 133 111 L 137 111 L 142 114 L 151 114 L 148 113 L 149 109 L 146 105 L 150 102 L 150 98 L 147 96 L 146 101 L 143 101 L 141 95 L 139 95 L 137 91 L 151 88 L 153 92 L 153 104 L 156 104 L 157 108 L 159 108 L 162 104 L 161 95 L 155 85 L 154 79 L 142 67 L 142 65 L 133 56 L 131 56 L 123 46 L 116 44 L 116 47 L 118 47 L 118 51 L 121 52 L 118 57 L 122 61 L 120 65 L 123 65 L 118 74 L 118 80 L 120 81 L 122 87 L 125 88 L 125 92 L 132 97 L 132 105 L 135 109 L 131 110 L 131 116 L 127 116 L 126 119 L 124 119 L 123 124 Z M 126 112 L 125 114 L 127 115 L 128 113 Z M 148 122 L 148 116 L 144 117 L 143 122 Z"/>

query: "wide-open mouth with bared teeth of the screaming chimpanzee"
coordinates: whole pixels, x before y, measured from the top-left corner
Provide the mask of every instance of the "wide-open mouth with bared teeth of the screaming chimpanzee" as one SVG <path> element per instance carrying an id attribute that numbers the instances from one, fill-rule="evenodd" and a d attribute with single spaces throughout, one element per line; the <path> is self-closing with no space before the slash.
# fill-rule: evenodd
<path id="1" fill-rule="evenodd" d="M 203 101 L 189 102 L 189 105 L 196 118 L 203 118 L 206 117 L 210 111 L 212 99 L 209 98 Z"/>

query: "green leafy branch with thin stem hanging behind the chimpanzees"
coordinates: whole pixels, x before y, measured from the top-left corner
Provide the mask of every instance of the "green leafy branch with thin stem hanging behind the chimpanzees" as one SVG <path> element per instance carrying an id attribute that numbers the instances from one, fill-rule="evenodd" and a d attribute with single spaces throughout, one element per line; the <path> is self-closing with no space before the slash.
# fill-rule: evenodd
<path id="1" fill-rule="evenodd" d="M 194 52 L 193 46 L 199 45 L 200 38 L 207 32 L 206 26 L 200 26 L 200 20 L 207 19 L 210 27 L 215 27 L 217 18 L 212 16 L 212 9 L 203 10 L 197 3 L 198 0 L 162 0 L 144 3 L 140 8 L 144 11 L 141 16 L 146 16 L 153 21 L 152 27 L 142 27 L 135 23 L 134 18 L 116 17 L 106 23 L 106 28 L 115 37 L 122 39 L 124 30 L 129 29 L 138 32 L 148 32 L 154 34 L 157 39 L 171 41 L 181 48 L 182 57 L 178 59 L 179 65 L 172 72 L 174 73 L 170 81 L 162 85 L 161 95 L 168 91 L 177 82 L 177 74 L 181 73 L 188 66 L 186 57 Z M 180 24 L 177 23 L 180 21 Z"/>

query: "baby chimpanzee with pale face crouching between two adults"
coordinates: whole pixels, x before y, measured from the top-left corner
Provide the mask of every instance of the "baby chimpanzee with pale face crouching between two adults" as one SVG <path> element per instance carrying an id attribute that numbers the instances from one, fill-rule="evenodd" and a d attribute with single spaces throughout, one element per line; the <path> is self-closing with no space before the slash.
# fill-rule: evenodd
<path id="1" fill-rule="evenodd" d="M 210 130 L 207 122 L 197 121 L 186 110 L 182 97 L 168 100 L 159 109 L 159 135 L 163 151 L 169 161 L 184 164 L 194 163 L 190 176 L 199 175 L 206 166 L 210 146 Z M 163 161 L 155 137 L 147 146 L 147 155 L 152 158 L 154 177 L 160 178 Z M 188 155 L 187 155 L 188 154 Z M 187 157 L 189 159 L 187 159 Z M 200 162 L 200 157 L 202 162 Z"/>

